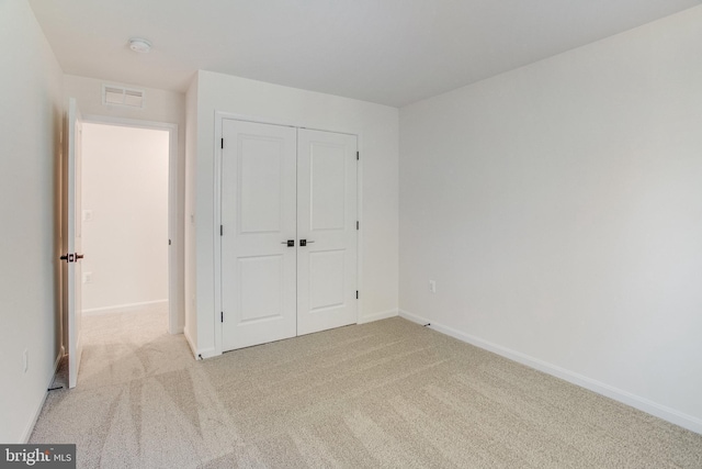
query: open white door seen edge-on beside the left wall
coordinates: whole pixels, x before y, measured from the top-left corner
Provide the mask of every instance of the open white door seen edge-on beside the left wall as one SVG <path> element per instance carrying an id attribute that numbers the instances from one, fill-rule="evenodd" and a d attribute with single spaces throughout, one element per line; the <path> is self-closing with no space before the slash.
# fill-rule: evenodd
<path id="1" fill-rule="evenodd" d="M 68 101 L 67 150 L 64 177 L 64 317 L 68 342 L 68 387 L 75 388 L 78 381 L 78 367 L 82 355 L 80 323 L 82 308 L 81 293 L 81 209 L 80 209 L 80 167 L 82 124 L 76 100 Z"/>

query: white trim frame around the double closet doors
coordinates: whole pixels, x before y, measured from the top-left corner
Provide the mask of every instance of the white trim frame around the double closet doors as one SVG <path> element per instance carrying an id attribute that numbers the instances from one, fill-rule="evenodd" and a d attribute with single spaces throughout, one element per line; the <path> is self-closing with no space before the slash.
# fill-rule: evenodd
<path id="1" fill-rule="evenodd" d="M 295 129 L 308 129 L 310 131 L 333 132 L 337 134 L 355 135 L 356 137 L 356 150 L 363 154 L 362 134 L 358 130 L 335 130 L 335 129 L 319 129 L 316 126 L 304 125 L 301 122 L 290 122 L 283 120 L 274 120 L 268 118 L 256 118 L 251 115 L 237 114 L 233 112 L 215 111 L 215 134 L 214 134 L 214 216 L 213 216 L 213 259 L 214 259 L 214 287 L 215 287 L 215 309 L 213 313 L 214 328 L 215 328 L 215 355 L 222 355 L 223 342 L 222 342 L 222 322 L 219 315 L 222 313 L 222 236 L 219 236 L 219 226 L 222 225 L 222 145 L 219 139 L 222 138 L 222 122 L 225 119 L 231 119 L 235 121 L 253 122 L 257 124 L 272 124 L 284 125 Z M 361 311 L 363 311 L 363 158 L 360 158 L 356 164 L 356 220 L 360 223 L 359 232 L 356 233 L 356 287 L 359 289 L 359 300 L 356 302 L 356 324 L 361 319 Z"/>

